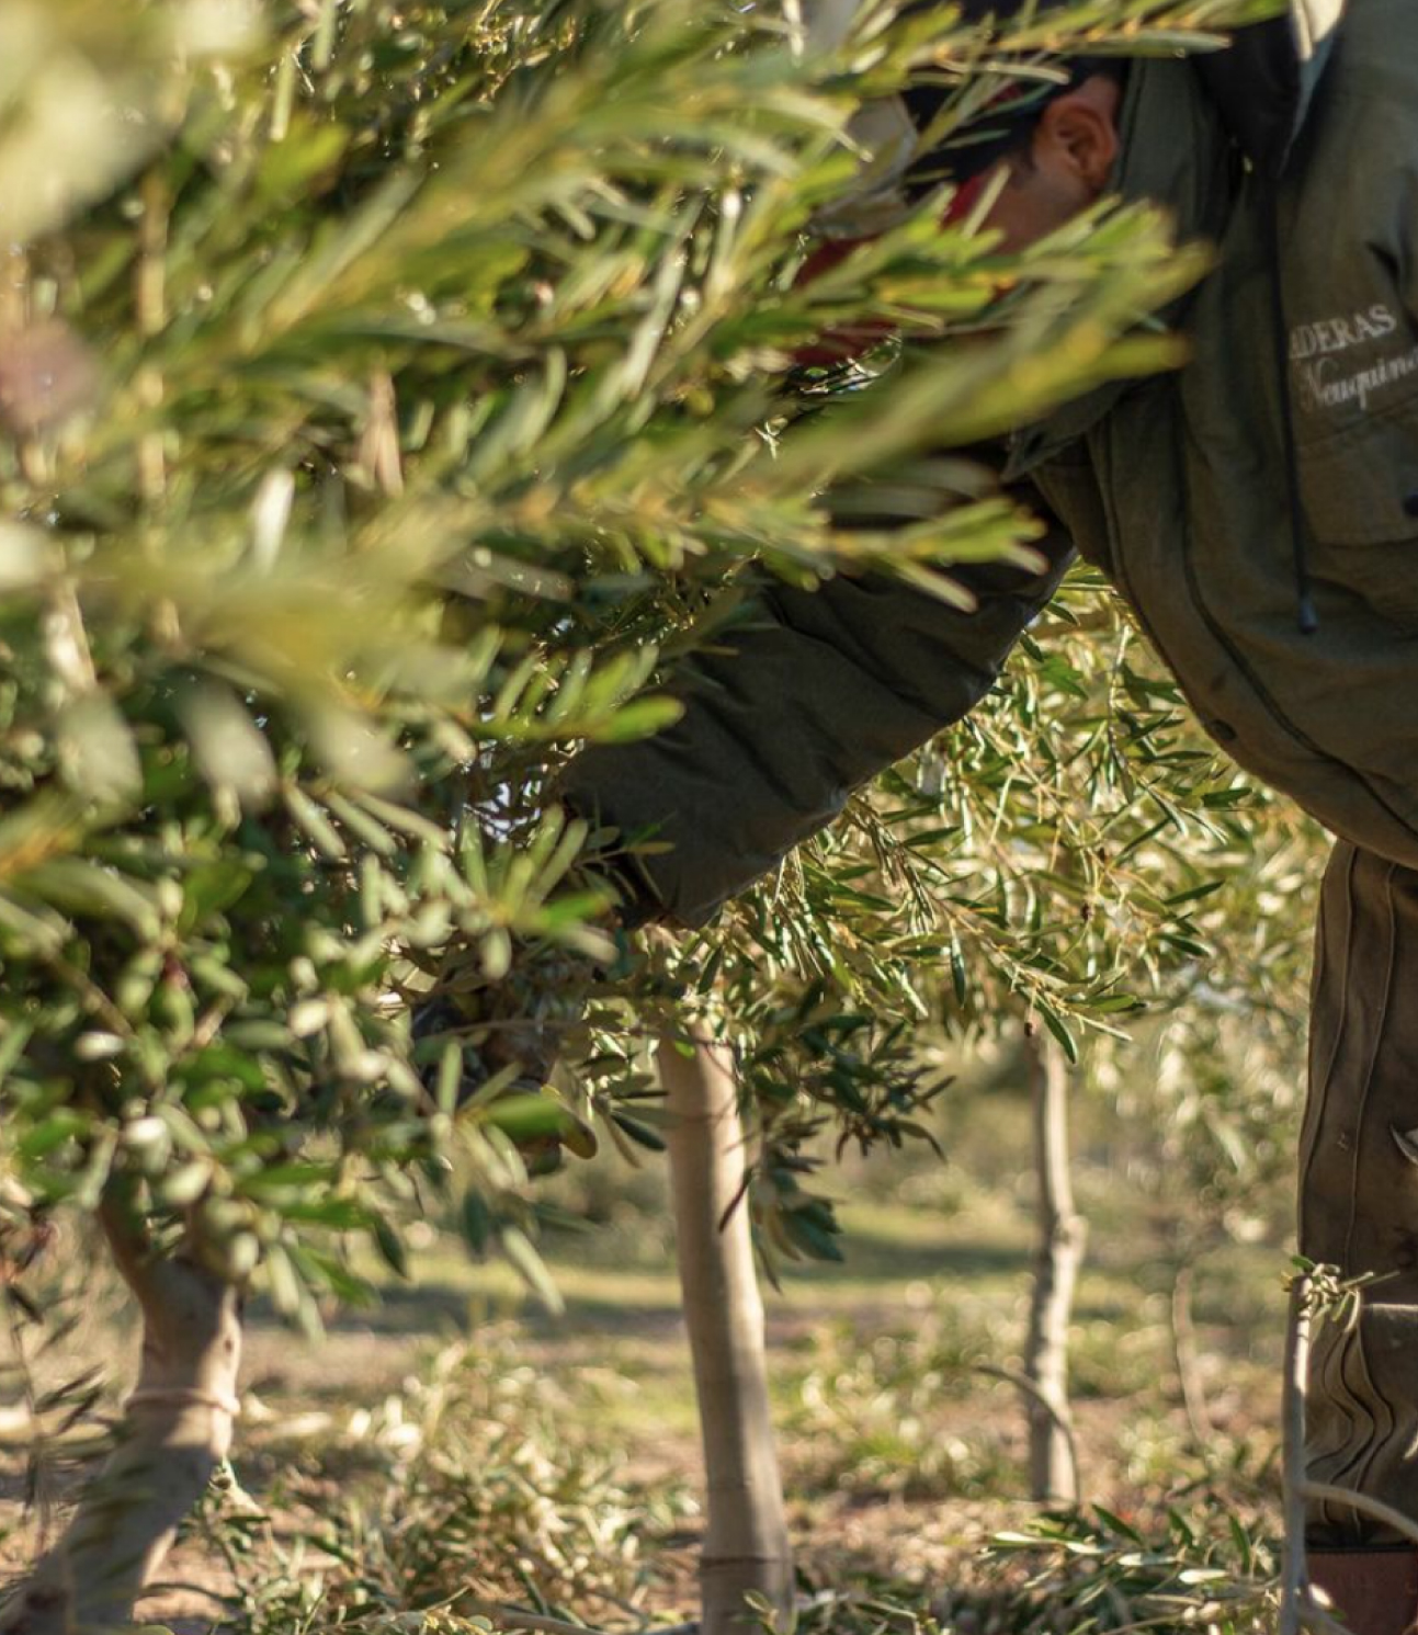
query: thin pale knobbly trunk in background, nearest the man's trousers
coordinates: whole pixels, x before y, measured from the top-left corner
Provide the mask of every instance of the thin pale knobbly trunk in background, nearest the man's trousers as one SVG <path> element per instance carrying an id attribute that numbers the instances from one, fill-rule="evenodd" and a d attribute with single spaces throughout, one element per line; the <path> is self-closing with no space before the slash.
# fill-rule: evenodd
<path id="1" fill-rule="evenodd" d="M 1068 1153 L 1068 1064 L 1039 1033 L 1025 1035 L 1034 1104 L 1034 1166 L 1039 1177 L 1039 1236 L 1024 1373 L 1039 1396 L 1029 1401 L 1029 1485 L 1035 1499 L 1078 1503 L 1068 1403 L 1068 1328 L 1088 1223 L 1073 1207 Z"/>

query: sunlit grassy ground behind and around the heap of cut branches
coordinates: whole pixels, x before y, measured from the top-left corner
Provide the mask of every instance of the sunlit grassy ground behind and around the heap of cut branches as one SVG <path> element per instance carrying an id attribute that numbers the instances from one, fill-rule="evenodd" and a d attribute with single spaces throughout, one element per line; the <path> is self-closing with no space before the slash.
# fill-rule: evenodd
<path id="1" fill-rule="evenodd" d="M 991 1532 L 1032 1514 L 1019 1398 L 981 1372 L 1017 1364 L 1030 1220 L 1011 1192 L 985 1189 L 949 1212 L 868 1198 L 842 1213 L 846 1262 L 787 1269 L 782 1290 L 767 1297 L 800 1563 L 814 1581 L 891 1573 L 950 1584 L 970 1576 Z M 474 1357 L 479 1349 L 496 1354 L 491 1373 L 527 1373 L 509 1413 L 535 1414 L 538 1398 L 554 1403 L 564 1424 L 577 1427 L 568 1447 L 590 1426 L 597 1445 L 621 1450 L 617 1493 L 664 1496 L 664 1514 L 648 1525 L 636 1557 L 641 1565 L 615 1581 L 638 1586 L 628 1602 L 635 1617 L 685 1615 L 698 1447 L 662 1216 L 633 1212 L 590 1233 L 553 1234 L 546 1248 L 566 1295 L 561 1316 L 530 1305 L 505 1269 L 471 1264 L 433 1231 L 414 1282 L 388 1288 L 376 1310 L 334 1316 L 322 1344 L 293 1336 L 257 1305 L 236 1470 L 267 1521 L 250 1537 L 221 1522 L 186 1540 L 168 1568 L 186 1588 L 155 1597 L 147 1615 L 180 1632 L 211 1628 L 219 1612 L 211 1592 L 231 1592 L 232 1565 L 239 1576 L 258 1578 L 263 1550 L 275 1552 L 271 1560 L 281 1555 L 296 1576 L 314 1575 L 329 1558 L 309 1547 L 319 1535 L 312 1517 L 332 1514 L 361 1483 L 386 1480 L 381 1460 L 397 1462 L 399 1437 L 422 1434 L 412 1419 L 429 1398 L 411 1380 L 420 1370 L 427 1380 L 440 1347 L 445 1357 L 469 1347 Z M 1197 1267 L 1194 1364 L 1209 1424 L 1192 1426 L 1158 1238 L 1145 1220 L 1130 1231 L 1096 1233 L 1073 1359 L 1089 1498 L 1125 1512 L 1155 1506 L 1158 1494 L 1228 1462 L 1259 1470 L 1264 1481 L 1282 1269 L 1276 1246 L 1230 1248 Z M 85 1354 L 111 1359 L 128 1346 L 131 1329 L 116 1301 L 96 1298 L 65 1341 L 65 1365 Z M 486 1373 L 460 1388 L 494 1390 Z M 554 1414 L 548 1434 L 556 1440 Z M 7 1566 L 23 1563 L 33 1547 L 23 1485 L 11 1458 L 0 1489 Z M 592 1617 L 589 1604 L 581 1610 Z M 602 1607 L 600 1615 L 625 1627 L 626 1607 Z"/>

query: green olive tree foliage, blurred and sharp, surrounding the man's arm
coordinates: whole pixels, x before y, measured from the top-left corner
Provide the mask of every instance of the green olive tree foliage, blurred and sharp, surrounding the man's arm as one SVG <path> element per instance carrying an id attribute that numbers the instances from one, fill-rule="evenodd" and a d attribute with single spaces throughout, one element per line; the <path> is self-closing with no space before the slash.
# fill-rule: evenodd
<path id="1" fill-rule="evenodd" d="M 1068 0 L 998 49 L 1173 49 L 1256 10 Z M 1204 253 L 1148 209 L 1021 258 L 926 209 L 795 281 L 854 198 L 862 101 L 934 67 L 960 124 L 994 62 L 949 7 L 867 5 L 831 49 L 687 0 L 5 7 L 13 1243 L 121 1195 L 314 1323 L 361 1292 L 352 1239 L 397 1269 L 456 1189 L 471 1244 L 545 1287 L 525 1105 L 460 1109 L 417 1059 L 409 999 L 450 961 L 536 1010 L 618 960 L 546 1092 L 586 1151 L 597 1123 L 657 1143 L 644 1046 L 713 1014 L 770 1252 L 832 1252 L 805 1143 L 921 1133 L 940 1030 L 1034 1017 L 1076 1053 L 1186 1002 L 1171 1112 L 1245 1171 L 1297 1082 L 1318 842 L 1088 574 L 972 723 L 702 934 L 617 953 L 581 863 L 615 837 L 545 795 L 672 716 L 656 675 L 746 564 L 952 595 L 952 561 L 1035 523 L 932 456 L 1179 360 L 1145 320 Z M 909 515 L 839 526 L 855 481 Z"/>

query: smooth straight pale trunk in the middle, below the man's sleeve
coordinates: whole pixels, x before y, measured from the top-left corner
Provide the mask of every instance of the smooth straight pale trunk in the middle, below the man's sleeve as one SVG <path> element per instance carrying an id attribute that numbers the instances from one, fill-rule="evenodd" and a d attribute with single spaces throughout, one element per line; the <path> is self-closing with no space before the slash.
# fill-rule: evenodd
<path id="1" fill-rule="evenodd" d="M 744 1597 L 787 1617 L 793 1565 L 769 1409 L 764 1306 L 744 1200 L 746 1151 L 728 1050 L 695 1038 L 659 1048 L 684 1311 L 708 1491 L 700 1558 L 702 1635 L 756 1628 Z"/>

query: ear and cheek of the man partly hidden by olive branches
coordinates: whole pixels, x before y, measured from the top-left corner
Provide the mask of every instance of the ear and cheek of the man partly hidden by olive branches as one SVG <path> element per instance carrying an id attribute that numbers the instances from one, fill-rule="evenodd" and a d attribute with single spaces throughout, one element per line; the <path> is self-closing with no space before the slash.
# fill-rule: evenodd
<path id="1" fill-rule="evenodd" d="M 1003 159 L 1009 172 L 985 226 L 1003 234 L 1006 250 L 1024 250 L 1107 188 L 1119 152 L 1115 80 L 1094 74 L 1057 96 L 1034 128 L 1029 154 Z"/>

